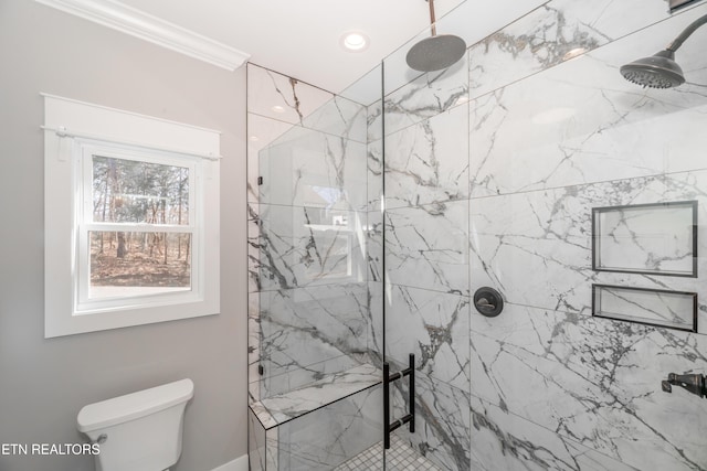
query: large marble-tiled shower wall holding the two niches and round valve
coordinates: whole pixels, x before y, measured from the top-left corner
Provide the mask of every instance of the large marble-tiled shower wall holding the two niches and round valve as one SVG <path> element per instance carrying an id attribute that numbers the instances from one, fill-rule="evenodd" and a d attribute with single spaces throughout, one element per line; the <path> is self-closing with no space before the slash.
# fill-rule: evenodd
<path id="1" fill-rule="evenodd" d="M 402 367 L 415 353 L 421 384 L 422 426 L 399 433 L 442 469 L 707 469 L 704 399 L 661 390 L 707 373 L 707 28 L 677 53 L 679 88 L 619 74 L 707 6 L 666 10 L 552 0 L 369 108 L 387 354 Z M 592 270 L 593 207 L 675 201 L 698 205 L 697 278 Z M 694 291 L 699 332 L 593 318 L 592 283 Z M 482 286 L 503 292 L 499 318 L 471 306 Z"/>

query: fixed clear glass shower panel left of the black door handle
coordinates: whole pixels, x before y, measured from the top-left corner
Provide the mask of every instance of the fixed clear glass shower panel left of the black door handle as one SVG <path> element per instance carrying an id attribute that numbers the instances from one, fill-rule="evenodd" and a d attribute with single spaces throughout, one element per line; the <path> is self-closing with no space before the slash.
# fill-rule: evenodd
<path id="1" fill-rule="evenodd" d="M 382 74 L 340 95 L 247 74 L 250 405 L 267 463 L 336 469 L 382 454 Z"/>

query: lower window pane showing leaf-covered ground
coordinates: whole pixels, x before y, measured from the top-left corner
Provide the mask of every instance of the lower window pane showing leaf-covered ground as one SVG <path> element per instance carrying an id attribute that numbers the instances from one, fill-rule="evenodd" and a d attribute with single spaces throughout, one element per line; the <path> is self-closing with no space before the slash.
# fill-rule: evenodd
<path id="1" fill-rule="evenodd" d="M 89 232 L 88 298 L 191 289 L 191 234 Z"/>

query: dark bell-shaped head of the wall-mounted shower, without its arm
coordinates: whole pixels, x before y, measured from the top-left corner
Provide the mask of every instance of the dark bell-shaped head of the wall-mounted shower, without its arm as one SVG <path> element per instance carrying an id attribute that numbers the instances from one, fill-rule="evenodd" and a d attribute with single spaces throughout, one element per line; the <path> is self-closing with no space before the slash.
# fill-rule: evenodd
<path id="1" fill-rule="evenodd" d="M 621 75 L 644 88 L 671 88 L 685 83 L 683 69 L 674 61 L 673 51 L 661 51 L 651 57 L 633 61 L 621 67 Z"/>

